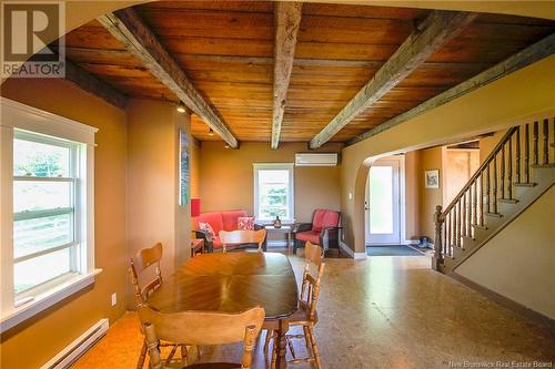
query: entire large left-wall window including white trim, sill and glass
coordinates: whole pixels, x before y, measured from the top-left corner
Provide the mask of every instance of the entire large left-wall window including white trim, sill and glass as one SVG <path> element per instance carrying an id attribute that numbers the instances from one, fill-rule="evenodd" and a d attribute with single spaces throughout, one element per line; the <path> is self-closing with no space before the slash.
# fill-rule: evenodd
<path id="1" fill-rule="evenodd" d="M 95 129 L 1 99 L 1 330 L 94 281 Z"/>

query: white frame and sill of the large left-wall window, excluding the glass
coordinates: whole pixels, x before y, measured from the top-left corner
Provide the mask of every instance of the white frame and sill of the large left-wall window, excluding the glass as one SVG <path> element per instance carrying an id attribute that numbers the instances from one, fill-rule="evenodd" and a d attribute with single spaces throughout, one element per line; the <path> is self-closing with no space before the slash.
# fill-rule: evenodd
<path id="1" fill-rule="evenodd" d="M 98 129 L 0 98 L 0 332 L 10 329 L 94 283 L 94 134 Z M 46 141 L 77 143 L 80 173 L 74 173 L 74 273 L 32 287 L 13 290 L 13 139 L 16 131 L 50 136 Z M 18 299 L 18 300 L 16 300 Z"/>

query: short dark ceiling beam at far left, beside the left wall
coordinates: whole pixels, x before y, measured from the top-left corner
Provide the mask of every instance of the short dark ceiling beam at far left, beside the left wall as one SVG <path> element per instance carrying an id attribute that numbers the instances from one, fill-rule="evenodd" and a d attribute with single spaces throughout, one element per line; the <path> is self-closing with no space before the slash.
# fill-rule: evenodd
<path id="1" fill-rule="evenodd" d="M 84 69 L 65 59 L 65 80 L 74 83 L 81 90 L 92 93 L 109 104 L 124 109 L 128 98 L 107 82 L 87 72 Z"/>

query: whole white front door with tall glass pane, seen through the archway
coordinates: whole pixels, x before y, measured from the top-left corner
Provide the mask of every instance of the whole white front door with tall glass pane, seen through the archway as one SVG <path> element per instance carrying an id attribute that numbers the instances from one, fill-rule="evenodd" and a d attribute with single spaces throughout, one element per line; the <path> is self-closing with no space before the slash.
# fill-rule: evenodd
<path id="1" fill-rule="evenodd" d="M 366 243 L 401 244 L 400 161 L 380 160 L 372 164 L 366 191 Z"/>

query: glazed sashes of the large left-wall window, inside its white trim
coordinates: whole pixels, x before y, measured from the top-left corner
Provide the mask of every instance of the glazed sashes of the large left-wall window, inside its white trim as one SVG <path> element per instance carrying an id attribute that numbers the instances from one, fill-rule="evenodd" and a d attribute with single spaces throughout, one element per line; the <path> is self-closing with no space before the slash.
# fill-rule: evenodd
<path id="1" fill-rule="evenodd" d="M 79 144 L 24 131 L 13 140 L 13 291 L 79 271 Z M 23 294 L 24 295 L 24 294 Z"/>

